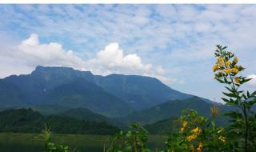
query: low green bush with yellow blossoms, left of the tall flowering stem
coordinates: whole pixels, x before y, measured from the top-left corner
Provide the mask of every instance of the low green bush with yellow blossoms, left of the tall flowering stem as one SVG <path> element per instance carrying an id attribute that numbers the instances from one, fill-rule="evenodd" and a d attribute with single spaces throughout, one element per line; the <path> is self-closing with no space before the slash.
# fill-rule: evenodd
<path id="1" fill-rule="evenodd" d="M 169 134 L 166 151 L 223 151 L 227 150 L 224 129 L 216 127 L 214 119 L 198 115 L 196 110 L 183 110 L 178 119 L 177 133 Z"/>

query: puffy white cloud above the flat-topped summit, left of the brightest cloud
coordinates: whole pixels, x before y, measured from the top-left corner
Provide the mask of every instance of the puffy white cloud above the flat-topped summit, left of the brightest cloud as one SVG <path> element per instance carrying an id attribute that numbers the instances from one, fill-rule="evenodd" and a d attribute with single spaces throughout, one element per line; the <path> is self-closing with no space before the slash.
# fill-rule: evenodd
<path id="1" fill-rule="evenodd" d="M 31 34 L 30 38 L 14 49 L 14 57 L 23 60 L 28 66 L 72 66 L 82 69 L 86 63 L 72 50 L 64 50 L 61 44 L 40 44 L 37 34 Z"/>

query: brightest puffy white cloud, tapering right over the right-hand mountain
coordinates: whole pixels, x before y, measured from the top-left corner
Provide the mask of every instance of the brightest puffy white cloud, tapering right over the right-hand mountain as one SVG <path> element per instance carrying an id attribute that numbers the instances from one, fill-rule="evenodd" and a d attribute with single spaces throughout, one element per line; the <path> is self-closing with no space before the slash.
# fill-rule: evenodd
<path id="1" fill-rule="evenodd" d="M 144 76 L 158 78 L 167 84 L 183 83 L 174 78 L 166 78 L 166 70 L 162 66 L 143 64 L 138 54 L 124 54 L 117 42 L 110 43 L 97 53 L 95 58 L 88 61 L 88 65 L 95 74 L 140 74 Z"/>

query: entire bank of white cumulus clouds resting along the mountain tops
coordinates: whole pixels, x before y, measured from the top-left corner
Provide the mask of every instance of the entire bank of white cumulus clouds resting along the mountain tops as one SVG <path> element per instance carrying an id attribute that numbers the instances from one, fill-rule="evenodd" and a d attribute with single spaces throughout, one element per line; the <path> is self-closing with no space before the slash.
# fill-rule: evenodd
<path id="1" fill-rule="evenodd" d="M 94 74 L 140 74 L 159 78 L 162 82 L 174 83 L 176 79 L 163 76 L 162 66 L 143 64 L 138 54 L 124 54 L 117 42 L 110 43 L 104 50 L 98 51 L 95 57 L 85 60 L 74 54 L 72 50 L 65 50 L 61 44 L 50 42 L 42 44 L 37 34 L 23 40 L 18 46 L 12 47 L 8 54 L 0 52 L 2 63 L 0 69 L 5 71 L 0 77 L 10 74 L 27 74 L 35 66 L 69 66 L 78 70 L 90 70 Z M 15 66 L 18 64 L 18 66 Z"/>

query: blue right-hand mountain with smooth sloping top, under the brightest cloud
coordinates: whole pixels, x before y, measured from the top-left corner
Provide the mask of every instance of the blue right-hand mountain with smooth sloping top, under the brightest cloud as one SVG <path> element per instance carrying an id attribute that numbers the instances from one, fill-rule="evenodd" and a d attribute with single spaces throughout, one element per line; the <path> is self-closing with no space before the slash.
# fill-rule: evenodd
<path id="1" fill-rule="evenodd" d="M 136 110 L 146 109 L 174 99 L 192 97 L 190 94 L 171 89 L 157 78 L 110 74 L 106 77 L 97 76 L 94 80 L 98 86 L 122 98 Z"/>

